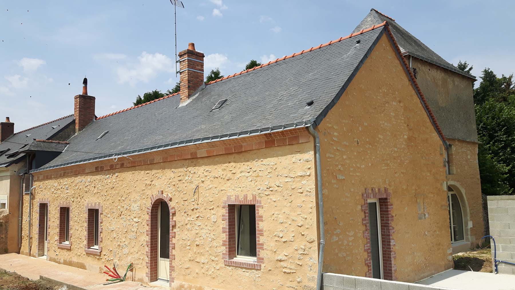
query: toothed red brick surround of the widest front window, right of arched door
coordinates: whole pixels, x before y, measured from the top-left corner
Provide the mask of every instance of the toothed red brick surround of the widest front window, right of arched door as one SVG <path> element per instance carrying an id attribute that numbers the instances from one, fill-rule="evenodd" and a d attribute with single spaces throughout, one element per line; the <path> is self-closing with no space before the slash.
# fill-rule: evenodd
<path id="1" fill-rule="evenodd" d="M 236 211 L 239 205 L 255 206 L 255 262 L 236 256 Z M 256 195 L 250 197 L 246 194 L 243 196 L 236 195 L 234 198 L 228 195 L 227 199 L 222 202 L 222 208 L 225 208 L 225 214 L 222 216 L 222 220 L 225 222 L 224 227 L 222 227 L 222 233 L 225 233 L 225 238 L 222 240 L 222 246 L 225 247 L 225 252 L 222 253 L 224 265 L 261 270 L 261 266 L 265 263 L 265 258 L 261 255 L 261 250 L 264 249 L 264 244 L 261 243 L 261 236 L 264 235 L 264 230 L 261 228 L 263 222 L 263 215 L 260 213 L 263 208 L 261 199 L 258 199 Z"/>

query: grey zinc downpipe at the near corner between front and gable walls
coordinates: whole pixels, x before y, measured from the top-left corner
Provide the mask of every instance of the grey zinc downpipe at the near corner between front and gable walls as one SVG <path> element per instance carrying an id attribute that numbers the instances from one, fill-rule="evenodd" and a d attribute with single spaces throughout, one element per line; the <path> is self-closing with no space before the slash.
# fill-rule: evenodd
<path id="1" fill-rule="evenodd" d="M 320 165 L 320 137 L 315 131 L 314 124 L 308 126 L 307 129 L 310 134 L 315 138 L 315 164 L 316 164 L 316 179 L 318 191 L 318 219 L 320 228 L 320 251 L 318 253 L 318 272 L 317 272 L 317 290 L 322 288 L 322 266 L 323 266 L 323 251 L 325 247 L 325 226 L 323 221 L 323 195 L 322 195 L 322 166 Z"/>

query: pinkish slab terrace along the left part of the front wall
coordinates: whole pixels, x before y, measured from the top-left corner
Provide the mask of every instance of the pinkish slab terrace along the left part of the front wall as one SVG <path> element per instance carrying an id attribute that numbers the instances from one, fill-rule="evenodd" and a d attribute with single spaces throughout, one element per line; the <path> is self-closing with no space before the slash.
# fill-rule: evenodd
<path id="1" fill-rule="evenodd" d="M 106 283 L 106 275 L 71 266 L 57 264 L 43 259 L 29 257 L 20 254 L 0 255 L 0 268 L 16 272 L 30 280 L 47 278 L 68 285 L 71 289 L 94 290 L 141 290 L 141 283 L 125 281 L 120 283 L 103 285 Z"/>

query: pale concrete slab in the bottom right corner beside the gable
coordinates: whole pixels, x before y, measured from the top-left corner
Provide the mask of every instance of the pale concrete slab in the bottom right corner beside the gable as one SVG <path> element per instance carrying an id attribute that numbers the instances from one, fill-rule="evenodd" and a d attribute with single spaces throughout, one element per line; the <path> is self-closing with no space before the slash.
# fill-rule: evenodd
<path id="1" fill-rule="evenodd" d="M 449 270 L 417 283 L 462 290 L 515 290 L 515 275 Z"/>

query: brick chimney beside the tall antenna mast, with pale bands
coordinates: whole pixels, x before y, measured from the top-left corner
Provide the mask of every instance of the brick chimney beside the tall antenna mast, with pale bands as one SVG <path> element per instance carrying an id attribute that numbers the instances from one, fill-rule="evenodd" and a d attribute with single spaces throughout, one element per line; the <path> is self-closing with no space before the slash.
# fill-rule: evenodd
<path id="1" fill-rule="evenodd" d="M 196 51 L 195 43 L 190 42 L 188 49 L 179 53 L 179 64 L 180 95 L 183 103 L 204 84 L 204 54 Z"/>

